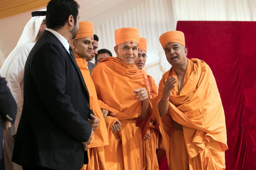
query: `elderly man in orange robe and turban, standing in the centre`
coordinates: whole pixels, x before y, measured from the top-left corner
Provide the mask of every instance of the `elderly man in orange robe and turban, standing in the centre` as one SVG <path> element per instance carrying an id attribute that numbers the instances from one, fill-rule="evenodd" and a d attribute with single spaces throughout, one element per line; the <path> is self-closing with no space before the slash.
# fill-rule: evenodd
<path id="1" fill-rule="evenodd" d="M 109 157 L 117 158 L 118 170 L 140 170 L 143 166 L 142 136 L 151 120 L 151 102 L 147 75 L 134 64 L 139 52 L 139 29 L 117 29 L 115 41 L 117 57 L 100 60 L 91 77 L 100 107 L 116 113 L 114 117 L 122 124 L 122 130 L 115 132 L 113 140 L 109 141 L 112 142 Z M 145 123 L 144 129 L 136 126 L 137 118 Z"/>

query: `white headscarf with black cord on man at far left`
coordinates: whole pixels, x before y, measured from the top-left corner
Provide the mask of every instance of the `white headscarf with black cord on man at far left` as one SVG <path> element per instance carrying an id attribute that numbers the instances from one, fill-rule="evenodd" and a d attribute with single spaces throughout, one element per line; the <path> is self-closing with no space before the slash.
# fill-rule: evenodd
<path id="1" fill-rule="evenodd" d="M 46 9 L 42 9 L 39 11 L 46 11 Z M 34 41 L 36 39 L 36 36 L 38 34 L 39 28 L 41 26 L 41 23 L 43 22 L 45 16 L 35 16 L 31 17 L 31 19 L 28 21 L 26 26 L 23 29 L 23 32 L 20 36 L 20 39 L 16 45 L 16 47 L 12 50 L 12 52 L 8 55 L 6 60 L 4 61 L 4 64 L 2 65 L 0 69 L 0 75 L 1 77 L 5 77 L 5 74 L 7 73 L 9 66 L 11 65 L 13 59 L 15 58 L 15 51 L 18 47 L 20 47 L 22 44 Z"/>

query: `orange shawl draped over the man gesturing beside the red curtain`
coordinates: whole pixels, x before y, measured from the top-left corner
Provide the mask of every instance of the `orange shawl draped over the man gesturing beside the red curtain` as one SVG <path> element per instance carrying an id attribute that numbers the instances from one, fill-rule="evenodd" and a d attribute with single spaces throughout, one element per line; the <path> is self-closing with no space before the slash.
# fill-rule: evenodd
<path id="1" fill-rule="evenodd" d="M 176 85 L 169 96 L 169 115 L 160 118 L 158 102 L 164 91 L 164 82 L 172 76 L 177 79 L 176 72 L 172 68 L 164 73 L 159 83 L 158 101 L 154 105 L 154 111 L 158 113 L 156 119 L 161 127 L 169 167 L 172 128 L 170 116 L 174 121 L 183 125 L 189 159 L 202 152 L 204 144 L 209 143 L 211 137 L 219 142 L 222 152 L 227 150 L 224 110 L 210 67 L 202 60 L 188 59 L 180 94 Z"/>

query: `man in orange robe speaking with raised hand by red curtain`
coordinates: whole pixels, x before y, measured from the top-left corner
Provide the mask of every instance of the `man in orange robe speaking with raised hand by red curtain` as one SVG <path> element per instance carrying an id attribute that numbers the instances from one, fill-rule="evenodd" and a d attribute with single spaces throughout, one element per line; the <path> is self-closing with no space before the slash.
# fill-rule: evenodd
<path id="1" fill-rule="evenodd" d="M 184 33 L 169 31 L 159 40 L 172 65 L 159 83 L 154 108 L 169 168 L 225 169 L 225 115 L 212 70 L 202 60 L 187 58 Z"/>

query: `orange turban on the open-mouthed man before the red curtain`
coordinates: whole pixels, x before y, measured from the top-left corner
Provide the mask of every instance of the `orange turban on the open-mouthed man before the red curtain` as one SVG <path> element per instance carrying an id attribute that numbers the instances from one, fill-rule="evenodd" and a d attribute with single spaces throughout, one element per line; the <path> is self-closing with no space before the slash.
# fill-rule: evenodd
<path id="1" fill-rule="evenodd" d="M 182 33 L 181 31 L 168 31 L 166 33 L 163 33 L 159 37 L 159 41 L 163 49 L 169 42 L 177 42 L 185 46 L 185 36 L 184 33 Z"/>

